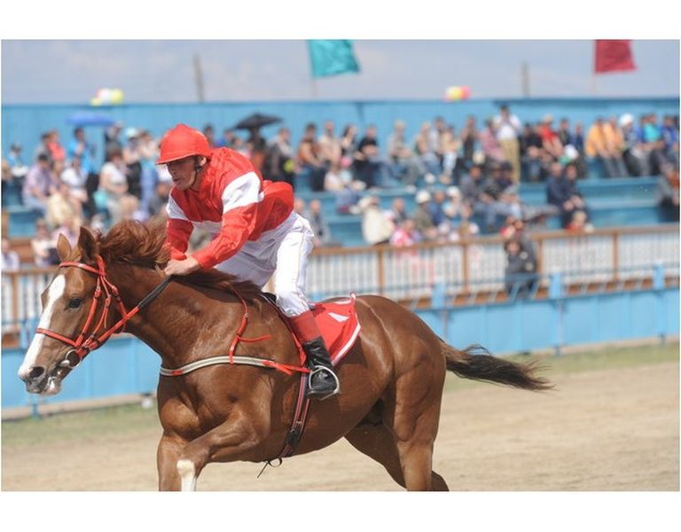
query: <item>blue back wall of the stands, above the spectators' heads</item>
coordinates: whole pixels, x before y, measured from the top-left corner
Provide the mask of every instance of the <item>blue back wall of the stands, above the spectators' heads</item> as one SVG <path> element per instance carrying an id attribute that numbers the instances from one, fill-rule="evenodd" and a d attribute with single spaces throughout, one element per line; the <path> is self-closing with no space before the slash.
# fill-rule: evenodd
<path id="1" fill-rule="evenodd" d="M 480 121 L 497 113 L 501 103 L 508 103 L 521 121 L 537 121 L 545 113 L 551 113 L 558 121 L 567 116 L 573 123 L 583 122 L 588 127 L 599 116 L 632 113 L 678 114 L 678 98 L 527 98 L 527 99 L 474 99 L 446 103 L 443 101 L 388 100 L 388 101 L 305 101 L 305 102 L 244 102 L 207 104 L 130 104 L 125 106 L 97 107 L 94 110 L 108 113 L 114 120 L 123 121 L 126 126 L 135 126 L 152 131 L 160 136 L 163 131 L 177 122 L 184 121 L 202 128 L 207 123 L 215 127 L 220 135 L 250 113 L 275 114 L 281 117 L 291 129 L 293 145 L 300 140 L 302 130 L 309 121 L 321 126 L 325 120 L 333 120 L 337 129 L 349 123 L 359 126 L 360 131 L 369 123 L 378 127 L 379 139 L 385 147 L 387 135 L 396 119 L 407 123 L 408 138 L 416 135 L 422 121 L 433 121 L 442 116 L 457 129 L 464 125 L 466 116 L 474 114 Z M 72 127 L 67 117 L 75 112 L 93 109 L 88 106 L 67 105 L 23 105 L 2 106 L 2 150 L 6 154 L 12 142 L 24 146 L 25 162 L 30 162 L 40 134 L 49 129 L 58 129 L 62 144 L 72 139 Z M 265 137 L 274 135 L 278 125 L 262 129 Z M 103 154 L 101 128 L 89 128 L 87 137 L 98 145 L 98 157 Z"/>

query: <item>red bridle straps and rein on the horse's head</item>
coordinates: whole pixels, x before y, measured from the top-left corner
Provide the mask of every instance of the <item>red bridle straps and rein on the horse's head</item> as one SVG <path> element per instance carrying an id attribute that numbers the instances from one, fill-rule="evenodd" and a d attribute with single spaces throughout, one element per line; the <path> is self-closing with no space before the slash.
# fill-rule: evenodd
<path id="1" fill-rule="evenodd" d="M 83 325 L 82 331 L 78 337 L 73 340 L 67 336 L 59 334 L 58 332 L 49 331 L 41 327 L 35 329 L 36 333 L 44 334 L 45 336 L 49 336 L 55 340 L 63 341 L 72 347 L 72 349 L 68 350 L 64 360 L 59 364 L 59 366 L 66 367 L 71 370 L 80 364 L 82 359 L 85 358 L 90 351 L 97 349 L 106 340 L 108 340 L 109 337 L 114 334 L 114 332 L 123 332 L 125 324 L 129 321 L 129 319 L 135 316 L 140 309 L 143 309 L 146 304 L 153 301 L 153 299 L 156 298 L 156 296 L 159 295 L 159 293 L 161 293 L 166 286 L 168 286 L 168 283 L 172 279 L 171 277 L 163 279 L 160 285 L 156 286 L 151 293 L 148 293 L 142 301 L 137 303 L 134 309 L 127 311 L 123 301 L 121 300 L 121 295 L 118 293 L 118 288 L 114 285 L 114 283 L 106 278 L 106 268 L 102 257 L 97 257 L 97 264 L 98 268 L 94 268 L 93 266 L 84 264 L 82 262 L 61 262 L 59 264 L 59 268 L 80 268 L 81 270 L 88 271 L 97 276 L 97 286 L 95 286 L 95 293 L 92 298 L 92 304 L 90 305 L 90 313 L 88 314 L 88 319 L 85 321 L 85 325 Z M 100 306 L 101 300 L 103 300 L 102 303 L 104 305 L 104 310 L 102 310 L 102 313 L 99 316 L 97 325 L 93 325 L 94 318 L 97 314 L 97 309 Z M 100 330 L 106 328 L 106 318 L 109 315 L 109 307 L 111 306 L 112 300 L 115 300 L 118 305 L 119 312 L 121 313 L 121 319 L 113 326 L 109 327 L 98 335 Z M 91 326 L 92 331 L 89 332 Z"/>

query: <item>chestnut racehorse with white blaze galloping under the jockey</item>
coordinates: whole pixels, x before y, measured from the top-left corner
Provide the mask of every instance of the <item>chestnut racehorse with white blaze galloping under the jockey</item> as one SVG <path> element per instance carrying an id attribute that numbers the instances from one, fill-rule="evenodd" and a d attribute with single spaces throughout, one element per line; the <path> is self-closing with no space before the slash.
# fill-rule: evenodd
<path id="1" fill-rule="evenodd" d="M 172 278 L 165 290 L 162 266 L 168 261 L 161 226 L 122 222 L 106 236 L 82 229 L 73 249 L 59 239 L 62 264 L 43 293 L 43 314 L 20 368 L 32 393 L 52 395 L 79 360 L 73 339 L 101 325 L 120 331 L 117 322 L 143 340 L 162 366 L 178 368 L 210 356 L 225 355 L 247 306 L 249 338 L 239 356 L 300 366 L 299 351 L 276 309 L 249 282 L 216 270 Z M 84 266 L 83 266 L 84 265 Z M 105 277 L 106 276 L 106 277 Z M 165 286 L 165 284 L 164 284 Z M 117 288 L 117 290 L 116 290 Z M 102 292 L 113 304 L 93 304 Z M 121 301 L 116 301 L 120 293 Z M 126 309 L 148 304 L 129 319 Z M 406 489 L 445 490 L 432 470 L 440 417 L 442 385 L 450 370 L 468 379 L 541 390 L 531 364 L 514 364 L 469 348 L 451 348 L 414 315 L 376 295 L 356 299 L 362 332 L 340 364 L 342 393 L 312 402 L 295 454 L 318 450 L 342 437 L 378 461 Z M 108 336 L 90 343 L 97 348 Z M 94 334 L 90 336 L 94 338 Z M 82 343 L 82 342 L 81 342 Z M 90 350 L 80 352 L 87 355 Z M 77 357 L 76 357 L 77 358 Z M 278 457 L 291 427 L 301 379 L 250 365 L 211 365 L 179 377 L 160 376 L 158 410 L 163 427 L 157 462 L 159 488 L 192 490 L 210 462 L 263 462 Z"/>

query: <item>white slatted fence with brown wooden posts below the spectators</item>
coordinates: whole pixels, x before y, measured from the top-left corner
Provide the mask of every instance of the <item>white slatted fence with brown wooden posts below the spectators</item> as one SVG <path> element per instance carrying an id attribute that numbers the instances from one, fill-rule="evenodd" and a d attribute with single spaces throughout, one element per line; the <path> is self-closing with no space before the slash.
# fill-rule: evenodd
<path id="1" fill-rule="evenodd" d="M 663 264 L 678 276 L 678 226 L 564 232 L 533 236 L 540 272 L 562 272 L 567 283 L 649 277 Z M 398 301 L 429 297 L 435 285 L 447 293 L 503 290 L 505 252 L 501 239 L 488 237 L 452 244 L 322 249 L 312 254 L 307 277 L 311 299 L 380 293 Z M 2 276 L 3 332 L 40 316 L 40 294 L 53 270 L 22 270 Z"/>

